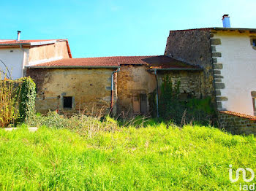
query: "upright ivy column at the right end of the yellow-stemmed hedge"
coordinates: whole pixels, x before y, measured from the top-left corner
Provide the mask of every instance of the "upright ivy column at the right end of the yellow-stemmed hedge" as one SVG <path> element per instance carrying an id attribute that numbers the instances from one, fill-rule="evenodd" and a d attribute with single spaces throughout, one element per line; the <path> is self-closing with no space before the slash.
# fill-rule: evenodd
<path id="1" fill-rule="evenodd" d="M 20 86 L 20 121 L 29 122 L 35 112 L 36 84 L 31 77 L 23 77 L 19 80 L 22 82 Z"/>

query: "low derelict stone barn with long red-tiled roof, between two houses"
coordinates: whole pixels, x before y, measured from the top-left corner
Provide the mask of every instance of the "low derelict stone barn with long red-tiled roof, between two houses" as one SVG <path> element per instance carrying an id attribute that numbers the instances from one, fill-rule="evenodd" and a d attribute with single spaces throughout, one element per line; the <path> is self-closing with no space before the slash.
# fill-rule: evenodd
<path id="1" fill-rule="evenodd" d="M 65 114 L 150 114 L 148 95 L 165 74 L 180 79 L 181 93 L 200 97 L 198 66 L 165 55 L 65 58 L 27 66 L 37 84 L 37 111 Z M 158 79 L 158 80 L 157 80 Z"/>

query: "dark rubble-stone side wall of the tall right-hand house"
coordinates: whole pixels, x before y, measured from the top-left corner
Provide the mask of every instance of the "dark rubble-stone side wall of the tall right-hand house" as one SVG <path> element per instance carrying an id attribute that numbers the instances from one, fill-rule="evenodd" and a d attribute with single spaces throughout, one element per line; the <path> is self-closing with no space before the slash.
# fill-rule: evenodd
<path id="1" fill-rule="evenodd" d="M 203 68 L 201 73 L 201 93 L 211 96 L 215 103 L 214 70 L 211 58 L 211 33 L 209 29 L 170 31 L 165 55 Z"/>

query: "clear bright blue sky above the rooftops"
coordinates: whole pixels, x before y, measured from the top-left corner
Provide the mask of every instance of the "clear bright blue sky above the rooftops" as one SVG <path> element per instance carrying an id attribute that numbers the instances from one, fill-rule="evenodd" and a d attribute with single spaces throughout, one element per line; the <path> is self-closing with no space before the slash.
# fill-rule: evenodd
<path id="1" fill-rule="evenodd" d="M 69 39 L 73 58 L 162 55 L 170 30 L 256 28 L 256 1 L 1 1 L 0 39 Z"/>

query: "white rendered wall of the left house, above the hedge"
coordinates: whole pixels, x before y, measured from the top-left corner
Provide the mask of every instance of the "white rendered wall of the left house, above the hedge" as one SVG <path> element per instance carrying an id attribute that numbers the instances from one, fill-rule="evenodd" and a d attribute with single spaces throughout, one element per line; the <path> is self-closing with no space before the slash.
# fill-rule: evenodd
<path id="1" fill-rule="evenodd" d="M 0 59 L 3 61 L 12 76 L 12 79 L 18 79 L 23 77 L 23 58 L 24 55 L 26 57 L 26 50 L 25 53 L 20 48 L 6 48 L 0 49 Z M 26 61 L 26 59 L 24 60 Z M 0 70 L 6 72 L 6 69 L 3 63 L 0 62 Z M 8 74 L 8 73 L 7 73 Z M 4 74 L 1 73 L 1 78 L 4 77 Z"/>

